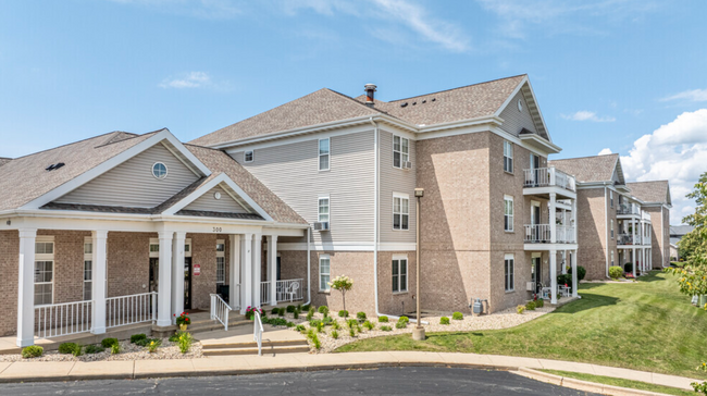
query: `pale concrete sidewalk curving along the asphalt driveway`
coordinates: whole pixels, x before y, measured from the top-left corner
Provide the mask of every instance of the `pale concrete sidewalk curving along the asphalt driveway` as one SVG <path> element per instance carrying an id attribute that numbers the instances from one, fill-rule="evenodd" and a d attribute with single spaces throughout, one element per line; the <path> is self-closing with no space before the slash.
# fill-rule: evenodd
<path id="1" fill-rule="evenodd" d="M 127 360 L 99 362 L 0 362 L 0 382 L 148 379 L 259 374 L 283 371 L 364 369 L 376 367 L 447 366 L 476 369 L 549 369 L 630 379 L 692 391 L 698 380 L 645 371 L 559 360 L 495 355 L 381 351 L 350 354 L 286 354 L 278 356 L 224 356 L 202 359 Z"/>

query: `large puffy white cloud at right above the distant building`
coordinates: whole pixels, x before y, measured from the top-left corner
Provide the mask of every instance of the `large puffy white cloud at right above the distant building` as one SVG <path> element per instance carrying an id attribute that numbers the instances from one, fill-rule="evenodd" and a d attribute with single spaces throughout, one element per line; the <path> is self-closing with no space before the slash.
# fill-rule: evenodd
<path id="1" fill-rule="evenodd" d="M 699 175 L 707 172 L 707 109 L 684 112 L 633 144 L 621 157 L 627 180 L 645 182 L 668 180 L 673 209 L 671 223 L 690 214 L 694 202 L 685 198 Z"/>

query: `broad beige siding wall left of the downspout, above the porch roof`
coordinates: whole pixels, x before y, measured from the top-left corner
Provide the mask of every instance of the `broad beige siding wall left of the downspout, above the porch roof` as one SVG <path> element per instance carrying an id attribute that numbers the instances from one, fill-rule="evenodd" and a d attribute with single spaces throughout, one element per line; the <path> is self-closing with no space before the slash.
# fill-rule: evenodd
<path id="1" fill-rule="evenodd" d="M 330 197 L 331 231 L 312 231 L 315 243 L 373 242 L 373 131 L 332 136 L 330 170 L 319 171 L 319 138 L 230 154 L 310 224 L 318 200 Z"/>

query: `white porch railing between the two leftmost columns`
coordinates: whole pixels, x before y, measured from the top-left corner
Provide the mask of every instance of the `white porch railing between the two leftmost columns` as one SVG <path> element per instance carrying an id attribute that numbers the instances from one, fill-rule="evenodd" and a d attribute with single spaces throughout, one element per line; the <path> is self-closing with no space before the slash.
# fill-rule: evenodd
<path id="1" fill-rule="evenodd" d="M 36 335 L 57 337 L 91 330 L 92 301 L 51 304 L 35 307 Z"/>

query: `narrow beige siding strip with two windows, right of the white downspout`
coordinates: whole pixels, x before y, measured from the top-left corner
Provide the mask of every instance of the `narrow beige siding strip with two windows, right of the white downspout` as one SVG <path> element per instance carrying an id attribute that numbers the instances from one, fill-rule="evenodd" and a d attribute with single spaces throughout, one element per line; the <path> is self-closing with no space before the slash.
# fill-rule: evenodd
<path id="1" fill-rule="evenodd" d="M 410 169 L 393 166 L 393 136 L 381 131 L 381 243 L 414 243 L 415 239 L 415 141 L 410 139 Z M 405 137 L 404 135 L 397 135 Z M 409 230 L 393 230 L 393 194 L 407 194 L 410 198 Z M 424 199 L 424 198 L 423 198 Z"/>

